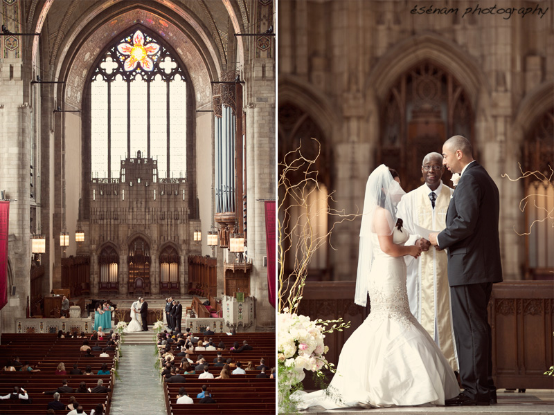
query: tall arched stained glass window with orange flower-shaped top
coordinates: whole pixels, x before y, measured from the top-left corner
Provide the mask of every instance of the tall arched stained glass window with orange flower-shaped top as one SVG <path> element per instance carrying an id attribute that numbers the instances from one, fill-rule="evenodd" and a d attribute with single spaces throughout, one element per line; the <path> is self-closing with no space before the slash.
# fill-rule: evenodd
<path id="1" fill-rule="evenodd" d="M 118 178 L 120 160 L 157 160 L 157 179 L 186 177 L 186 75 L 174 53 L 132 30 L 102 55 L 91 77 L 91 175 Z"/>

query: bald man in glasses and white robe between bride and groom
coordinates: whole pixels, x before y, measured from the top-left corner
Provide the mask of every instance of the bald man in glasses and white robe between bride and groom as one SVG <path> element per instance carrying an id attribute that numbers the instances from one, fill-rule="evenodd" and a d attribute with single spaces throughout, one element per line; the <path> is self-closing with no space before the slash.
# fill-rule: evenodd
<path id="1" fill-rule="evenodd" d="M 405 257 L 408 300 L 411 313 L 435 340 L 452 369 L 457 371 L 447 254 L 422 238 L 422 230 L 417 227 L 439 232 L 445 229 L 446 212 L 454 190 L 441 181 L 444 167 L 440 154 L 427 154 L 421 172 L 425 183 L 404 195 L 397 208 L 397 216 L 411 234 L 406 245 L 422 246 L 423 250 L 418 259 Z"/>

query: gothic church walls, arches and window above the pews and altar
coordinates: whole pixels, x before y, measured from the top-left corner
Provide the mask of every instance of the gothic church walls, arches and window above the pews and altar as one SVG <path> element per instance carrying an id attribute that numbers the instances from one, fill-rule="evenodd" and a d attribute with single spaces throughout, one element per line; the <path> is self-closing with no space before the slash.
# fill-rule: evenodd
<path id="1" fill-rule="evenodd" d="M 2 0 L 0 11 L 0 330 L 48 317 L 57 290 L 242 293 L 253 328 L 273 327 L 274 1 Z"/>

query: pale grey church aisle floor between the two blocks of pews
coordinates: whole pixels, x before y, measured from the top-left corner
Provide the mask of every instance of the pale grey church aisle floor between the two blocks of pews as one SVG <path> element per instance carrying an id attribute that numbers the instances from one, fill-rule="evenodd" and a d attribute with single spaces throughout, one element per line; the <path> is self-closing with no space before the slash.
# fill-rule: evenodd
<path id="1" fill-rule="evenodd" d="M 153 331 L 144 333 L 150 344 L 125 344 L 119 360 L 116 387 L 111 398 L 110 415 L 166 415 L 166 402 L 160 385 L 159 370 L 154 368 Z"/>

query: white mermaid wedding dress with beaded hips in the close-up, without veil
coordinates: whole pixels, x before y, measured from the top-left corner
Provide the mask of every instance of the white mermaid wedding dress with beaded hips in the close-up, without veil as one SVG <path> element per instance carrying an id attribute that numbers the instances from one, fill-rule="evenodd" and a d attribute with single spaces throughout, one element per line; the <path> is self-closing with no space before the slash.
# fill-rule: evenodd
<path id="1" fill-rule="evenodd" d="M 394 228 L 395 243 L 408 237 Z M 330 387 L 293 394 L 299 409 L 444 405 L 460 393 L 443 353 L 410 313 L 404 258 L 386 255 L 371 238 L 370 315 L 343 345 Z"/>

